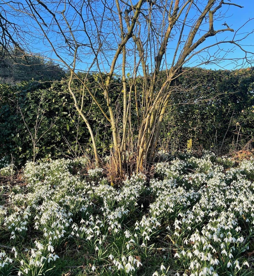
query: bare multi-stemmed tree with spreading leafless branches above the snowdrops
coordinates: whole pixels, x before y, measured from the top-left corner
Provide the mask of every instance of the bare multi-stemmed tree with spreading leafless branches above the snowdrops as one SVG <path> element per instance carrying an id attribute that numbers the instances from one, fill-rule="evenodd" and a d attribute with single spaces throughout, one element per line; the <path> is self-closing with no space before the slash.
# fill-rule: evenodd
<path id="1" fill-rule="evenodd" d="M 228 12 L 242 6 L 224 0 L 91 0 L 1 1 L 2 44 L 11 41 L 30 52 L 43 48 L 45 56 L 61 62 L 69 71 L 69 92 L 77 112 L 89 129 L 95 159 L 99 163 L 93 131 L 83 112 L 90 95 L 111 124 L 116 172 L 123 175 L 130 162 L 126 152 L 136 152 L 136 170 L 152 161 L 171 92 L 184 65 L 195 66 L 229 60 L 238 65 L 252 62 L 253 52 L 241 45 L 253 30 L 241 33 L 227 25 Z M 12 22 L 17 22 L 11 24 Z M 25 22 L 25 24 L 23 23 Z M 221 22 L 224 22 L 221 25 Z M 238 47 L 243 56 L 229 59 L 224 45 Z M 230 49 L 228 50 L 230 51 Z M 99 76 L 103 107 L 78 70 Z M 166 78 L 161 81 L 161 71 Z M 112 81 L 121 75 L 121 110 L 112 102 Z M 82 100 L 72 91 L 77 79 Z M 132 103 L 136 120 L 133 120 Z M 133 124 L 135 121 L 135 124 Z M 136 131 L 137 137 L 133 135 Z"/>

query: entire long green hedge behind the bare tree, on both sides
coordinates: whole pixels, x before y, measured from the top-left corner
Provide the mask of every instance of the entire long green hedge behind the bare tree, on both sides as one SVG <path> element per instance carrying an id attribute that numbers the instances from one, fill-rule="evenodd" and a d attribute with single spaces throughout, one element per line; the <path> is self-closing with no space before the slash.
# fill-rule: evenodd
<path id="1" fill-rule="evenodd" d="M 176 82 L 178 89 L 171 96 L 159 147 L 186 148 L 190 138 L 193 147 L 217 153 L 235 149 L 236 144 L 253 146 L 254 70 L 184 70 Z M 80 77 L 84 75 L 80 73 Z M 88 76 L 91 92 L 107 110 L 99 81 L 96 74 Z M 116 76 L 111 88 L 114 102 L 121 93 L 121 79 Z M 80 99 L 82 87 L 78 81 L 74 80 L 72 89 Z M 135 102 L 132 104 L 134 114 Z M 36 159 L 92 154 L 90 135 L 74 110 L 67 78 L 63 78 L 52 82 L 28 81 L 15 86 L 0 84 L 0 158 L 12 155 L 20 165 L 33 159 L 30 133 L 34 135 L 39 106 L 41 122 L 37 140 L 43 136 L 36 145 Z M 119 107 L 122 107 L 121 102 Z M 99 154 L 107 153 L 111 147 L 109 122 L 89 95 L 85 95 L 83 110 L 94 130 Z"/>

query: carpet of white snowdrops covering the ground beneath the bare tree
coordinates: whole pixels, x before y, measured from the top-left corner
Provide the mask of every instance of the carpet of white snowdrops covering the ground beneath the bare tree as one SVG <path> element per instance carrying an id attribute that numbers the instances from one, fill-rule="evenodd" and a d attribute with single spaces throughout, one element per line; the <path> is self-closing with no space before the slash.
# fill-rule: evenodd
<path id="1" fill-rule="evenodd" d="M 86 163 L 28 162 L 26 185 L 0 184 L 1 275 L 53 273 L 66 242 L 87 252 L 80 269 L 91 275 L 251 273 L 253 159 L 185 153 L 119 187 L 103 169 L 80 173 Z"/>

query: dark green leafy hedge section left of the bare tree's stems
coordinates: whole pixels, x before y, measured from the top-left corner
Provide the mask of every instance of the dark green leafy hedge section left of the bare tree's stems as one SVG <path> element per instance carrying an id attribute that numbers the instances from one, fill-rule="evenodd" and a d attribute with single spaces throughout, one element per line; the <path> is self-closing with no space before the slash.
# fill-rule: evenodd
<path id="1" fill-rule="evenodd" d="M 85 112 L 89 109 L 93 115 L 90 123 L 96 129 L 96 142 L 102 153 L 106 122 L 99 112 L 95 112 L 96 107 L 89 97 L 85 98 L 84 109 Z M 15 86 L 0 84 L 1 157 L 12 155 L 20 165 L 33 159 L 31 134 L 34 137 L 38 114 L 40 126 L 36 140 L 43 136 L 36 145 L 36 159 L 91 152 L 89 132 L 74 110 L 63 79 L 61 82 L 22 82 Z"/>

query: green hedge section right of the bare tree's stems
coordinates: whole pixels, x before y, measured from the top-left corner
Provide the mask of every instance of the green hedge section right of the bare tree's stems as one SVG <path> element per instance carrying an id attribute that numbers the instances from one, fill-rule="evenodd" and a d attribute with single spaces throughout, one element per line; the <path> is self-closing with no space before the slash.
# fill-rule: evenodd
<path id="1" fill-rule="evenodd" d="M 177 150 L 192 138 L 194 147 L 217 153 L 253 147 L 254 70 L 184 70 L 163 123 L 161 145 Z"/>

